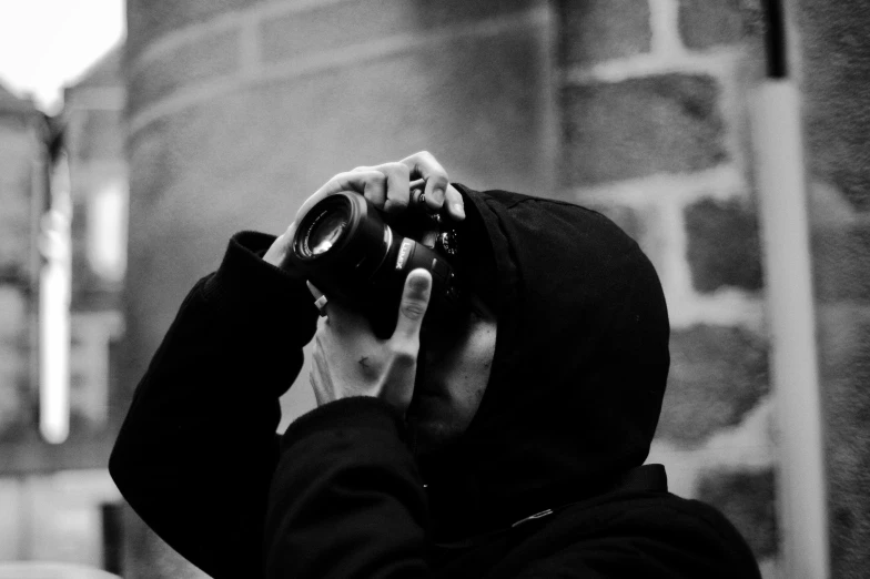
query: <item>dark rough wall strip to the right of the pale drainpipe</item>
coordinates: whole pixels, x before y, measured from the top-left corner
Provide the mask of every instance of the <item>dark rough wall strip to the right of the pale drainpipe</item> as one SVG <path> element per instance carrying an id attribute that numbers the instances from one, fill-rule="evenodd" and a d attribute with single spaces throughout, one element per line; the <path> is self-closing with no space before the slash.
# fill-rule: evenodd
<path id="1" fill-rule="evenodd" d="M 870 569 L 870 7 L 796 2 L 812 195 L 832 577 Z"/>

